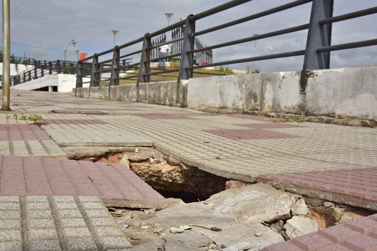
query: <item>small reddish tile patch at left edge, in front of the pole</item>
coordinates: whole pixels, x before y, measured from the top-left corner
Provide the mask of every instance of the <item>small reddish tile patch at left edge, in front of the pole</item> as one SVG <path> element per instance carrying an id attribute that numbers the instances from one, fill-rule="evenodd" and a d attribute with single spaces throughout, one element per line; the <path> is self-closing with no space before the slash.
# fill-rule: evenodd
<path id="1" fill-rule="evenodd" d="M 18 140 L 46 140 L 51 139 L 45 131 L 37 125 L 29 124 L 0 124 L 0 141 Z"/>

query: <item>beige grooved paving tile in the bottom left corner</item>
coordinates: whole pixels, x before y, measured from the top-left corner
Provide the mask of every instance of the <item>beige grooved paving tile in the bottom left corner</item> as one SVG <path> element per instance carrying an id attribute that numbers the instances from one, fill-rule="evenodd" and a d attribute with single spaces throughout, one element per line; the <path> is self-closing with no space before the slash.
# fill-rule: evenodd
<path id="1" fill-rule="evenodd" d="M 0 196 L 0 251 L 133 251 L 95 196 Z"/>

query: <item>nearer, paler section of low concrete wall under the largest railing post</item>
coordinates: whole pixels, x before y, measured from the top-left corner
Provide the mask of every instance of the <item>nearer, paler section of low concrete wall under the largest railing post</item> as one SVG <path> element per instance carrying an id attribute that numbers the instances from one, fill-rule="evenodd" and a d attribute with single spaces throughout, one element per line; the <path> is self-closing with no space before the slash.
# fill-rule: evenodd
<path id="1" fill-rule="evenodd" d="M 193 78 L 187 105 L 377 118 L 377 66 Z"/>

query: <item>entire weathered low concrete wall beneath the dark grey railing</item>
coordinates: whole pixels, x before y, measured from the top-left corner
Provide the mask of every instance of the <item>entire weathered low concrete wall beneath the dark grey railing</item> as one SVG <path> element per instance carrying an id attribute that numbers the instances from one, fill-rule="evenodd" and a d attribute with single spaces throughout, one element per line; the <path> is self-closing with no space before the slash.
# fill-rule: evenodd
<path id="1" fill-rule="evenodd" d="M 192 78 L 177 82 L 77 90 L 82 97 L 189 107 L 325 114 L 377 119 L 377 66 L 309 71 L 306 93 L 300 72 Z M 110 89 L 110 93 L 108 93 Z M 138 99 L 139 92 L 139 99 Z M 178 100 L 176 102 L 176 100 Z"/>

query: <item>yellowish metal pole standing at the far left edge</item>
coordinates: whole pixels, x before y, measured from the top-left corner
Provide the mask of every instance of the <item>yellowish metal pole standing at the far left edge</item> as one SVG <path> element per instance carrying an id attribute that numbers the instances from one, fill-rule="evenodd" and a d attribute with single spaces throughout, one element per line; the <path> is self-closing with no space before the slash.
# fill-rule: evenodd
<path id="1" fill-rule="evenodd" d="M 2 107 L 10 111 L 10 15 L 9 0 L 2 0 Z"/>

